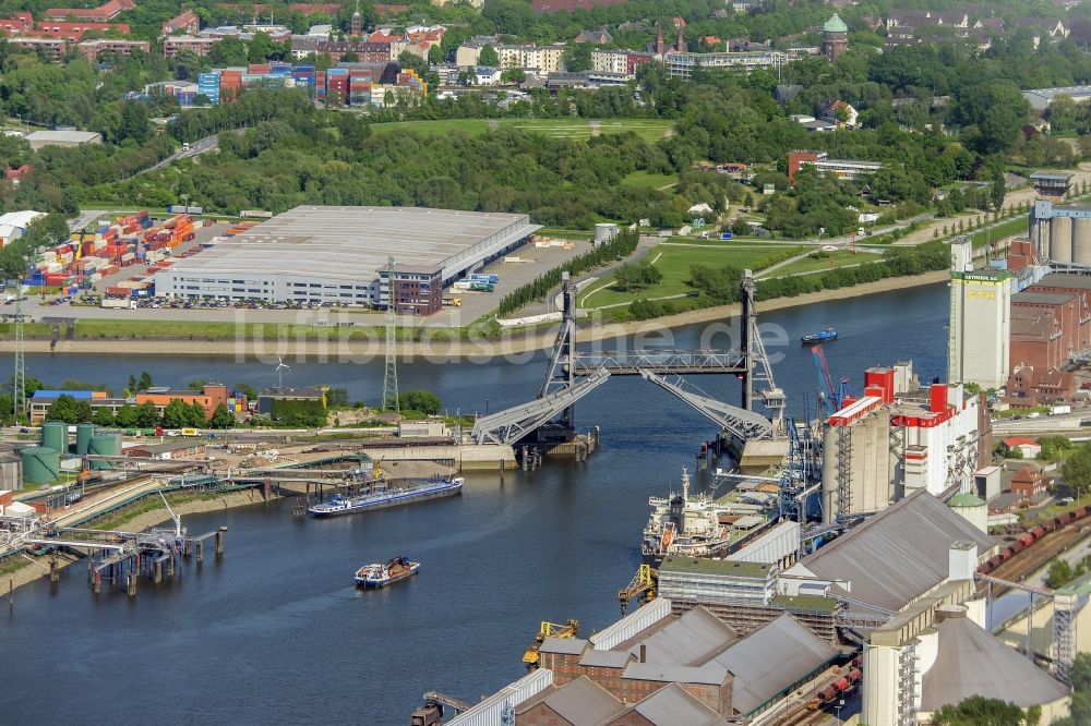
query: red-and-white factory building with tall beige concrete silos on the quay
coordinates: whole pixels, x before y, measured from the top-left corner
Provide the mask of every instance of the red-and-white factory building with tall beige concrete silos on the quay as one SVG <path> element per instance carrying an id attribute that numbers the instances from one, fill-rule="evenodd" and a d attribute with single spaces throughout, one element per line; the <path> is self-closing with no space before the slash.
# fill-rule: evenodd
<path id="1" fill-rule="evenodd" d="M 924 489 L 969 491 L 992 447 L 988 418 L 961 385 L 922 388 L 912 363 L 864 372 L 864 395 L 829 418 L 823 521 L 872 513 Z"/>

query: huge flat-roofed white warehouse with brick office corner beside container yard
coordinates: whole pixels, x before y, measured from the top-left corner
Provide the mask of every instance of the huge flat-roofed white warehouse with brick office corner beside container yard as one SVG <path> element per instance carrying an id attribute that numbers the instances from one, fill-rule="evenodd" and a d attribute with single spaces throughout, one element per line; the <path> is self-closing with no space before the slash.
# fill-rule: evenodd
<path id="1" fill-rule="evenodd" d="M 441 291 L 523 245 L 527 215 L 417 207 L 300 206 L 156 275 L 166 295 L 380 305 L 395 261 L 399 313 L 430 315 Z"/>

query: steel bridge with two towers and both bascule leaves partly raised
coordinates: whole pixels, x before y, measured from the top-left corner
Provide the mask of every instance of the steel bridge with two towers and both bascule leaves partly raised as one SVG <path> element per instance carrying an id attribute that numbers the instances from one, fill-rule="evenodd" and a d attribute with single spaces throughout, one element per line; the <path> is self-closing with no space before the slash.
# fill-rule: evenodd
<path id="1" fill-rule="evenodd" d="M 576 402 L 618 375 L 638 375 L 678 397 L 739 440 L 772 438 L 783 431 L 784 391 L 772 378 L 772 367 L 757 330 L 754 278 L 743 274 L 742 346 L 733 350 L 576 350 L 576 287 L 563 276 L 561 328 L 546 376 L 532 401 L 482 416 L 473 424 L 477 444 L 547 444 L 575 435 Z M 705 395 L 683 376 L 734 374 L 742 384 L 742 407 Z M 772 413 L 754 411 L 756 397 Z"/>

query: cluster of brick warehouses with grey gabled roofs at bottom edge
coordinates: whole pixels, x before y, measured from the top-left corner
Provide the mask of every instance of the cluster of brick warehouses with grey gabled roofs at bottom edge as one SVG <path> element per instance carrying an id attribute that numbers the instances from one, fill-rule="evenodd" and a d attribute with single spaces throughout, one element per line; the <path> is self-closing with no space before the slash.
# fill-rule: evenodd
<path id="1" fill-rule="evenodd" d="M 720 726 L 775 709 L 839 653 L 789 615 L 741 637 L 703 607 L 659 597 L 590 638 L 547 638 L 541 667 L 449 726 Z M 551 721 L 552 719 L 552 721 Z M 511 723 L 511 722 L 509 722 Z"/>

